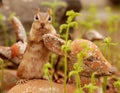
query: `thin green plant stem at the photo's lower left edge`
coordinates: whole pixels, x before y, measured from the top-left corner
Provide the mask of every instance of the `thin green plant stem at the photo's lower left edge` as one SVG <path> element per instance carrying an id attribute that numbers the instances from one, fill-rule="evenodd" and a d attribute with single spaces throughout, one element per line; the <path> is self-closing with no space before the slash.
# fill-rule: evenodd
<path id="1" fill-rule="evenodd" d="M 0 68 L 1 68 L 1 72 L 2 72 L 2 75 L 1 75 L 1 88 L 0 88 L 0 93 L 3 93 L 3 90 L 4 90 L 4 62 L 3 60 L 0 58 Z"/>

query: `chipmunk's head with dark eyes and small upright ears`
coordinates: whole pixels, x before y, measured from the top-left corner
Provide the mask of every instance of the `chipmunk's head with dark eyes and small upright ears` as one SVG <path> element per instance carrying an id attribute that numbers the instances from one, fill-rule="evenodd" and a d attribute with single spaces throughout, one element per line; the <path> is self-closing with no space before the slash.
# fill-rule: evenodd
<path id="1" fill-rule="evenodd" d="M 48 9 L 47 12 L 41 12 L 37 9 L 34 15 L 33 27 L 36 30 L 48 29 L 52 22 L 51 10 Z"/>

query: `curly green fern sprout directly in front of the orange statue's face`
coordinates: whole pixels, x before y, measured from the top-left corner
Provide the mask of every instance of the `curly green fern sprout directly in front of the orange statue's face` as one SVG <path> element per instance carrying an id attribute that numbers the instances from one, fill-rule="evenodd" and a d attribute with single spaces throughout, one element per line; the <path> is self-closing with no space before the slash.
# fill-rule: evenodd
<path id="1" fill-rule="evenodd" d="M 83 58 L 87 57 L 87 51 L 90 50 L 88 45 L 86 43 L 83 43 L 82 45 L 83 50 L 80 51 L 80 53 L 77 54 L 77 63 L 73 66 L 73 71 L 69 73 L 69 77 L 76 76 L 76 90 L 74 93 L 84 93 L 83 88 L 81 87 L 81 81 L 80 81 L 80 73 L 83 71 Z"/>

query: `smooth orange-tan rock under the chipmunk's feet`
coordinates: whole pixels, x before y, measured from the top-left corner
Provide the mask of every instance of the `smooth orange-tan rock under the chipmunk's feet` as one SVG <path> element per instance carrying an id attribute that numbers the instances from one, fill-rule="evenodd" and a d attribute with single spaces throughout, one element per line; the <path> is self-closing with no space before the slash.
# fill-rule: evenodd
<path id="1" fill-rule="evenodd" d="M 75 87 L 67 85 L 66 93 L 73 93 Z M 8 91 L 8 93 L 51 93 L 50 82 L 46 80 L 30 80 L 25 84 L 18 84 Z M 52 93 L 64 93 L 64 85 L 52 83 Z"/>

